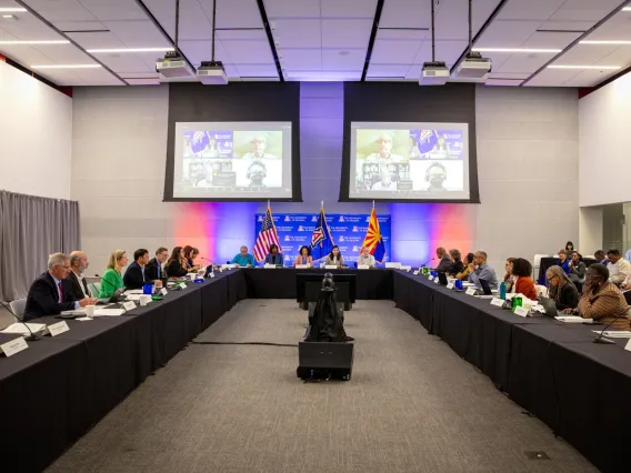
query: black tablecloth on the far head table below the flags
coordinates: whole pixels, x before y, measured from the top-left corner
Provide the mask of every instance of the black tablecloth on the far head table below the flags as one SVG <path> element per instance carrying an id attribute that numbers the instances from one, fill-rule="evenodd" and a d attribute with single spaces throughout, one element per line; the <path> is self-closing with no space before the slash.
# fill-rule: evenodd
<path id="1" fill-rule="evenodd" d="M 296 299 L 296 274 L 357 274 L 357 299 L 392 299 L 392 270 L 324 270 L 312 268 L 246 268 L 240 270 L 246 278 L 248 298 L 251 299 Z"/>

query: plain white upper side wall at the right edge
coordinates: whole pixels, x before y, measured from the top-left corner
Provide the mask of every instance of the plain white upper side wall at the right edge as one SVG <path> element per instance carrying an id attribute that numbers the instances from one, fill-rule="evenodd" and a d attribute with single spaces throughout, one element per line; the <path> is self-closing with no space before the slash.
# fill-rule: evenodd
<path id="1" fill-rule="evenodd" d="M 631 201 L 631 73 L 579 101 L 579 203 Z"/>

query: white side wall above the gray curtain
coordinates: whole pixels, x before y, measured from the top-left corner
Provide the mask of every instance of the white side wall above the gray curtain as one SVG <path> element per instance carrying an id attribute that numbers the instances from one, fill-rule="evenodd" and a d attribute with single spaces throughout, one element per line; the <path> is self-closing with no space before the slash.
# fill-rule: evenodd
<path id="1" fill-rule="evenodd" d="M 0 61 L 0 189 L 70 198 L 72 99 Z"/>

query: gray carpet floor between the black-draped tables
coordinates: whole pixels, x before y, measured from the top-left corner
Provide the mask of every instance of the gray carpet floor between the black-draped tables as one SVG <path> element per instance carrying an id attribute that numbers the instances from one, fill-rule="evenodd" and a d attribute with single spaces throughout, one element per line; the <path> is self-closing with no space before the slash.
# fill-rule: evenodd
<path id="1" fill-rule="evenodd" d="M 197 340 L 296 343 L 306 319 L 248 300 Z M 294 348 L 191 345 L 48 471 L 597 471 L 392 302 L 358 302 L 345 329 L 350 382 L 302 383 Z"/>

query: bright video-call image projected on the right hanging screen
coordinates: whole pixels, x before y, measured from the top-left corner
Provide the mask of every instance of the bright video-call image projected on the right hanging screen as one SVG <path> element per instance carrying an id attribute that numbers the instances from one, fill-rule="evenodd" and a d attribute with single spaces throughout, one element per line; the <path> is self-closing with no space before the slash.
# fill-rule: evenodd
<path id="1" fill-rule="evenodd" d="M 350 198 L 469 199 L 465 123 L 351 123 Z"/>

